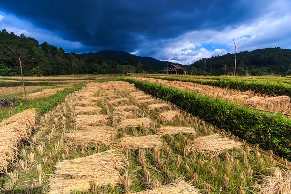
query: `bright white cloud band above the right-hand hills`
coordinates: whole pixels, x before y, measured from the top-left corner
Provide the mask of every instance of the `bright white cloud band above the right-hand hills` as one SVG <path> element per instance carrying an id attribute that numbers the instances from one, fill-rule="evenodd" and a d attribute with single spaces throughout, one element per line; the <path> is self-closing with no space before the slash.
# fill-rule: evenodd
<path id="1" fill-rule="evenodd" d="M 279 2 L 282 3 L 283 1 Z M 146 43 L 142 43 L 139 49 L 149 48 L 147 53 L 155 53 L 153 55 L 155 58 L 171 60 L 185 65 L 188 62 L 190 64 L 194 63 L 200 58 L 223 55 L 227 52 L 234 53 L 232 39 L 236 43 L 241 40 L 238 45 L 238 52 L 266 47 L 291 49 L 291 25 L 289 25 L 291 14 L 286 13 L 280 17 L 274 17 L 275 14 L 277 13 L 269 13 L 254 20 L 249 25 L 227 27 L 222 31 L 192 31 L 176 38 L 159 40 L 158 43 L 144 39 Z M 221 48 L 211 46 L 212 43 L 221 45 Z M 210 48 L 205 49 L 202 46 L 203 44 L 210 44 Z M 160 45 L 162 47 L 159 47 Z"/>

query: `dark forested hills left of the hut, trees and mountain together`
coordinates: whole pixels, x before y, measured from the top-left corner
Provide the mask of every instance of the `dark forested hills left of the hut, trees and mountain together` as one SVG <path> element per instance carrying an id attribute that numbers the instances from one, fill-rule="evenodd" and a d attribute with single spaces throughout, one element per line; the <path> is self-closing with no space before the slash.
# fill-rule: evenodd
<path id="1" fill-rule="evenodd" d="M 116 56 L 114 53 L 121 55 Z M 0 76 L 19 76 L 19 58 L 22 61 L 24 76 L 72 74 L 73 63 L 74 74 L 126 73 L 127 66 L 130 65 L 134 67 L 135 73 L 145 72 L 143 70 L 154 73 L 160 72 L 166 65 L 164 61 L 138 57 L 121 51 L 65 53 L 62 48 L 49 45 L 47 42 L 40 44 L 34 38 L 28 38 L 24 34 L 17 36 L 3 29 L 0 31 Z"/>

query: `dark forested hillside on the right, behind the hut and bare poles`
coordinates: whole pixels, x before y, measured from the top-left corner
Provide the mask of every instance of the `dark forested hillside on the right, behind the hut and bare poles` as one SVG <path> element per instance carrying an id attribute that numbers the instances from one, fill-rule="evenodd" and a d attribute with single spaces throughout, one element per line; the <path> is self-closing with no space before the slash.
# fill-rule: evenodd
<path id="1" fill-rule="evenodd" d="M 229 53 L 194 62 L 190 65 L 190 73 L 205 73 L 205 60 L 208 75 L 233 74 L 235 54 Z M 286 75 L 291 64 L 291 50 L 276 47 L 239 52 L 236 64 L 237 75 Z M 291 71 L 288 72 L 288 75 L 291 75 Z"/>

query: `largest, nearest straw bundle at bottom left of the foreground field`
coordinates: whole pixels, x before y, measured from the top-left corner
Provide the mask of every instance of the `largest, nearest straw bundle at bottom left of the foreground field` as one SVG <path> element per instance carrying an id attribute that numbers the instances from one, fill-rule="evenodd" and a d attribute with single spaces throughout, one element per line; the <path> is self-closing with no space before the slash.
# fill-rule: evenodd
<path id="1" fill-rule="evenodd" d="M 50 180 L 50 194 L 69 194 L 71 191 L 85 191 L 97 186 L 117 185 L 121 176 L 117 169 L 123 167 L 120 156 L 108 150 L 87 157 L 64 160 L 56 163 L 55 178 Z M 62 178 L 65 175 L 83 178 Z"/>

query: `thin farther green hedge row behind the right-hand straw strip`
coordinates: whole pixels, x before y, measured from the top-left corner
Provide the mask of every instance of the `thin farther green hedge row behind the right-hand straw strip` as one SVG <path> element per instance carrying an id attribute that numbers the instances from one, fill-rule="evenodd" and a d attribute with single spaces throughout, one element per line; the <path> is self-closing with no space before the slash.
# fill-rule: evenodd
<path id="1" fill-rule="evenodd" d="M 267 95 L 287 95 L 291 97 L 291 85 L 280 83 L 269 83 L 264 81 L 242 81 L 242 80 L 196 80 L 181 77 L 160 77 L 160 76 L 146 76 L 149 78 L 158 78 L 163 80 L 176 80 L 192 83 L 199 83 L 201 85 L 211 85 L 226 89 L 237 89 L 242 91 L 252 90 L 255 93 L 267 94 Z"/>

